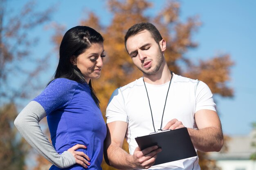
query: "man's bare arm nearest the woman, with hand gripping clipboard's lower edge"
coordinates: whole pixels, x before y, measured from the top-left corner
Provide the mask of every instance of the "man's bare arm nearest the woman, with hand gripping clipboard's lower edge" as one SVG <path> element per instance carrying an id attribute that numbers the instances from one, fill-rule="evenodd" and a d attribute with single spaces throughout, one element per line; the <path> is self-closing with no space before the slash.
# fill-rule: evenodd
<path id="1" fill-rule="evenodd" d="M 161 149 L 158 146 L 151 146 L 144 150 L 137 147 L 133 155 L 129 155 L 122 149 L 127 123 L 115 121 L 107 124 L 107 137 L 104 142 L 104 157 L 106 162 L 119 169 L 148 169 L 154 163 L 157 153 Z"/>

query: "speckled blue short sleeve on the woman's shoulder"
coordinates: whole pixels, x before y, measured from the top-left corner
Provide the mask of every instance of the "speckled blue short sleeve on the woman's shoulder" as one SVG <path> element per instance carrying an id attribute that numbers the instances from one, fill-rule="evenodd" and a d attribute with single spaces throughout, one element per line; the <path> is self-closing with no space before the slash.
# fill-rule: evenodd
<path id="1" fill-rule="evenodd" d="M 38 102 L 48 115 L 56 109 L 65 107 L 72 100 L 77 85 L 75 81 L 57 78 L 33 101 Z"/>

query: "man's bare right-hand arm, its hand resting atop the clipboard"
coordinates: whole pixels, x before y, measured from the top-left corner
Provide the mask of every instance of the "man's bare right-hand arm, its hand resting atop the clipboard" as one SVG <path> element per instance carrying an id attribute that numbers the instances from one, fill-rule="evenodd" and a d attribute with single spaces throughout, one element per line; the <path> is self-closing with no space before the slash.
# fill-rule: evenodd
<path id="1" fill-rule="evenodd" d="M 223 146 L 223 134 L 220 119 L 216 111 L 202 109 L 195 113 L 197 129 L 188 128 L 194 147 L 203 152 L 220 151 Z M 177 119 L 170 120 L 163 130 L 184 127 Z"/>

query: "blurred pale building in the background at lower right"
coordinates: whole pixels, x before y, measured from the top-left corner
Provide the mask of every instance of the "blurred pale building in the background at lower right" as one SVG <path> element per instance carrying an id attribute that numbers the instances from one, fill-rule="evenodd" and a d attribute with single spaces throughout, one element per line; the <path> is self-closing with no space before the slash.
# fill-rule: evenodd
<path id="1" fill-rule="evenodd" d="M 232 136 L 225 141 L 227 151 L 209 153 L 210 159 L 215 159 L 222 170 L 256 170 L 256 160 L 250 159 L 256 153 L 256 129 L 247 136 Z"/>

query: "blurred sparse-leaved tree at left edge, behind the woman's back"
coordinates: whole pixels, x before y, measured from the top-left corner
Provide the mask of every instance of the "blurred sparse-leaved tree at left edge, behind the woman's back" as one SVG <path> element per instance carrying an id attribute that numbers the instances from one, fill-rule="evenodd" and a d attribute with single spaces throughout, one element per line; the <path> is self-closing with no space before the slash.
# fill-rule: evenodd
<path id="1" fill-rule="evenodd" d="M 48 58 L 31 55 L 38 39 L 29 33 L 50 19 L 52 9 L 37 11 L 31 1 L 15 11 L 9 2 L 0 0 L 0 169 L 23 170 L 29 148 L 13 121 L 22 100 L 42 88 L 36 78 Z"/>

